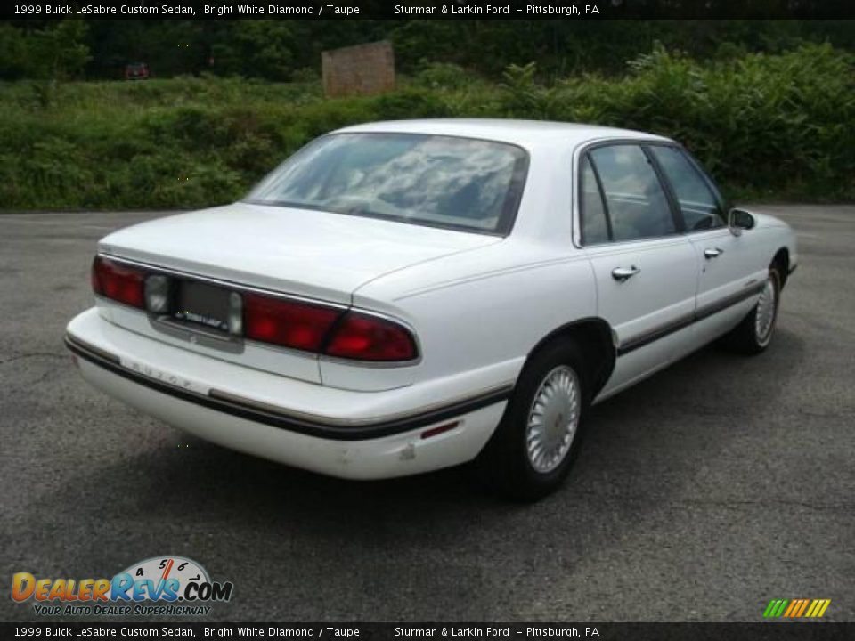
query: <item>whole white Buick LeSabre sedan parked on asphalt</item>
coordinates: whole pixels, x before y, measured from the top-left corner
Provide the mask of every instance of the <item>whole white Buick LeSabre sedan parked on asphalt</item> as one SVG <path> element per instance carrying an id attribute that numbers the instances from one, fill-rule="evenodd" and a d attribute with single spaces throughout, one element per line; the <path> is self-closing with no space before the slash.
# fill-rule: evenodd
<path id="1" fill-rule="evenodd" d="M 796 261 L 666 138 L 375 123 L 102 239 L 66 342 L 92 385 L 226 447 L 351 479 L 476 460 L 532 499 L 591 403 L 719 337 L 763 351 Z"/>

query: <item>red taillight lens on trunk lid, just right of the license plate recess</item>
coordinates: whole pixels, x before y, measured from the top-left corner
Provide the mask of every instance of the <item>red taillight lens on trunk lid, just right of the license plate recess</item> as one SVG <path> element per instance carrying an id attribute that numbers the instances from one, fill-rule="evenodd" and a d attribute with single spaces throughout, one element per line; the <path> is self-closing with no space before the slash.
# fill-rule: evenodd
<path id="1" fill-rule="evenodd" d="M 246 336 L 312 352 L 341 313 L 329 307 L 298 303 L 284 298 L 246 294 L 243 297 Z"/>

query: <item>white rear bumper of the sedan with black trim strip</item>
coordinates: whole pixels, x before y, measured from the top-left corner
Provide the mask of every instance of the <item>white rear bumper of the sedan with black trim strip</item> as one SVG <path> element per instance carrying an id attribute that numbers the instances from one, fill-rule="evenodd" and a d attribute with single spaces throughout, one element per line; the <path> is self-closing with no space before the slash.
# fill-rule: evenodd
<path id="1" fill-rule="evenodd" d="M 475 458 L 510 392 L 506 385 L 425 403 L 412 386 L 366 393 L 314 385 L 143 337 L 97 309 L 69 323 L 66 345 L 90 384 L 170 425 L 352 479 L 419 474 Z"/>

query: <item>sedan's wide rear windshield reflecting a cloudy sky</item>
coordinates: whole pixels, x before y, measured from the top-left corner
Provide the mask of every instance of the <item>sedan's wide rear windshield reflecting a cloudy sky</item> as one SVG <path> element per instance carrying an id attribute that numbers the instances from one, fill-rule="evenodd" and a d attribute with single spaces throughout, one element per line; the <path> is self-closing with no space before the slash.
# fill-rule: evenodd
<path id="1" fill-rule="evenodd" d="M 248 202 L 506 234 L 525 150 L 428 134 L 330 134 L 273 170 Z"/>

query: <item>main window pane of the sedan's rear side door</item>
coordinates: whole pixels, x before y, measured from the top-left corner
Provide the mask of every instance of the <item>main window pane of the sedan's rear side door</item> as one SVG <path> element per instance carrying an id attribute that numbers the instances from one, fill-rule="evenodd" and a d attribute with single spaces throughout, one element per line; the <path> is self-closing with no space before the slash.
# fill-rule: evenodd
<path id="1" fill-rule="evenodd" d="M 609 145 L 590 150 L 589 156 L 602 183 L 613 240 L 677 232 L 662 184 L 644 150 L 638 145 Z"/>

